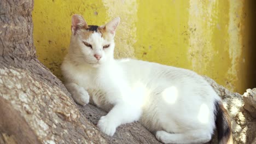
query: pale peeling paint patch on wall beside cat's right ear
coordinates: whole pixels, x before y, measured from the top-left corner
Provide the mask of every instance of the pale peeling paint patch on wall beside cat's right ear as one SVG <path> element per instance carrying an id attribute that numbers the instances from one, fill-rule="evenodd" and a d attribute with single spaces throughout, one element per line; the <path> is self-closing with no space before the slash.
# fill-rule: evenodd
<path id="1" fill-rule="evenodd" d="M 116 34 L 117 37 L 115 38 L 115 57 L 134 57 L 132 45 L 136 42 L 136 0 L 105 0 L 103 3 L 104 7 L 107 8 L 108 20 L 117 16 L 121 17 L 121 22 Z"/>

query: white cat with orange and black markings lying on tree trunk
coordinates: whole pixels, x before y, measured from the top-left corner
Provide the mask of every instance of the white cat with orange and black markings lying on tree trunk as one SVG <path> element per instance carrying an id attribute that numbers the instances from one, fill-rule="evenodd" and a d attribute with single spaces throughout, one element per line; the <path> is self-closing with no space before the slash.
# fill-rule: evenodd
<path id="1" fill-rule="evenodd" d="M 69 52 L 61 67 L 65 86 L 78 104 L 90 101 L 109 111 L 98 128 L 113 136 L 119 125 L 139 121 L 163 143 L 205 143 L 217 128 L 219 142 L 232 143 L 222 101 L 200 75 L 114 59 L 119 21 L 117 17 L 103 26 L 88 26 L 81 15 L 73 15 Z"/>

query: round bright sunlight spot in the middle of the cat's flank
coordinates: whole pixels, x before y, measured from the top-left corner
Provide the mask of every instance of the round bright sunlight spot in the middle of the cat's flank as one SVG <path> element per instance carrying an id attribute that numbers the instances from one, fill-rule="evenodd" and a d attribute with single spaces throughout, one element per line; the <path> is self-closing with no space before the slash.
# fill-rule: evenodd
<path id="1" fill-rule="evenodd" d="M 162 92 L 162 97 L 169 104 L 174 104 L 178 98 L 178 89 L 174 86 L 166 88 Z"/>

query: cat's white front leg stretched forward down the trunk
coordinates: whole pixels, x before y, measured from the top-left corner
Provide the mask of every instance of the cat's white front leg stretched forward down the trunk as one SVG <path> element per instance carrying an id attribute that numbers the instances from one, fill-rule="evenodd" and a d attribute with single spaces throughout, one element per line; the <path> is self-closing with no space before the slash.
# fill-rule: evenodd
<path id="1" fill-rule="evenodd" d="M 98 121 L 98 128 L 109 135 L 113 136 L 115 129 L 125 123 L 138 121 L 141 116 L 141 107 L 132 104 L 118 103 L 106 116 L 102 116 Z"/>

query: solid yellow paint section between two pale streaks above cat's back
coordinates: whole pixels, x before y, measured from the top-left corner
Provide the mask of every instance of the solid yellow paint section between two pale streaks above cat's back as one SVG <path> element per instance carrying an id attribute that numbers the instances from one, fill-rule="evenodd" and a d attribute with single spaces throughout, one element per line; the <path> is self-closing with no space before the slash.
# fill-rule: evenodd
<path id="1" fill-rule="evenodd" d="M 189 1 L 137 1 L 135 56 L 145 61 L 191 68 Z"/>

